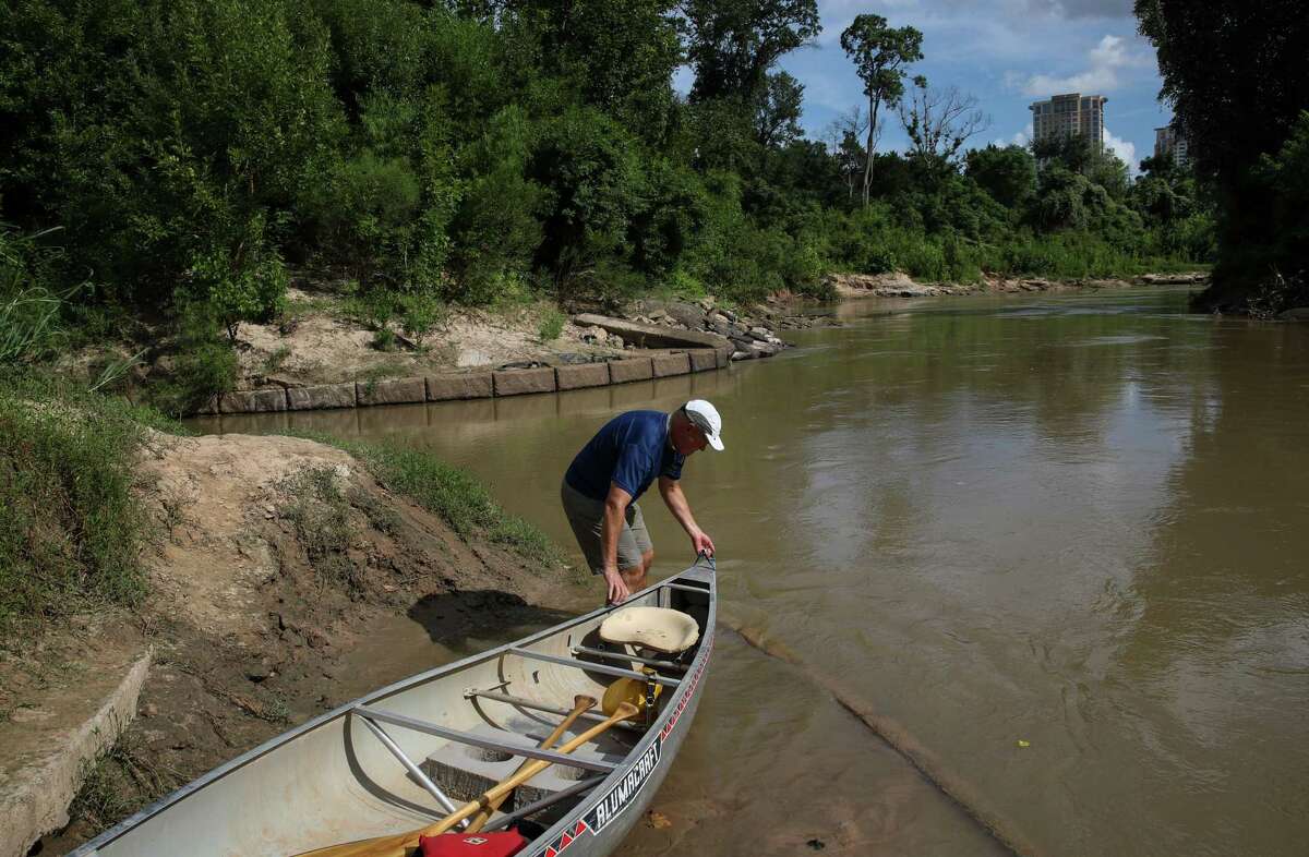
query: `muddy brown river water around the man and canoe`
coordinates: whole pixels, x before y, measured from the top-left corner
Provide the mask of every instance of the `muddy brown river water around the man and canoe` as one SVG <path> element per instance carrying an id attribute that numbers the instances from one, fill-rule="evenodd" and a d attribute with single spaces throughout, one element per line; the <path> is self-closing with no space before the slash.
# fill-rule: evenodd
<path id="1" fill-rule="evenodd" d="M 723 635 L 654 802 L 670 824 L 624 857 L 1004 853 L 806 673 L 912 733 L 1035 853 L 1299 856 L 1309 326 L 1185 298 L 864 302 L 726 372 L 196 427 L 431 449 L 573 550 L 560 474 L 607 416 L 719 406 L 726 451 L 683 484 L 724 610 L 806 666 Z M 686 565 L 644 508 L 657 570 Z M 416 628 L 382 629 L 387 657 L 425 666 Z"/>

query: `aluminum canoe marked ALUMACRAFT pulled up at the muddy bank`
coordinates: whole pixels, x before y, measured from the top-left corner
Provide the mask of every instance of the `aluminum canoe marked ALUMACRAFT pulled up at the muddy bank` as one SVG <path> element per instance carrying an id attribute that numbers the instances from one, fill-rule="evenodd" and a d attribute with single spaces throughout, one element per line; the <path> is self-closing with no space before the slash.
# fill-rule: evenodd
<path id="1" fill-rule="evenodd" d="M 504 778 L 563 720 L 576 695 L 603 696 L 656 661 L 652 712 L 614 727 L 514 792 L 487 830 L 516 824 L 522 857 L 609 854 L 649 805 L 690 730 L 713 648 L 715 578 L 694 565 L 606 607 L 404 679 L 211 771 L 72 852 L 73 857 L 289 857 L 399 833 Z M 600 640 L 614 610 L 678 610 L 698 642 L 661 656 Z M 649 679 L 645 679 L 647 682 Z M 603 720 L 600 708 L 560 744 Z M 572 761 L 573 764 L 564 764 Z"/>

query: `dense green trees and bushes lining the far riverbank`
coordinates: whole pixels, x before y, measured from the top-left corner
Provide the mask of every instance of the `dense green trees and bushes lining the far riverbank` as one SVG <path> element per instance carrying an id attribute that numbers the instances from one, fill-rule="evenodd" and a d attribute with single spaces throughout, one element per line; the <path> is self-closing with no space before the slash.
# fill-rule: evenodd
<path id="1" fill-rule="evenodd" d="M 0 306 L 33 349 L 48 294 L 72 294 L 73 327 L 170 319 L 207 390 L 230 377 L 224 340 L 283 311 L 289 272 L 431 315 L 1207 253 L 1203 209 L 1162 200 L 1175 182 L 1138 194 L 1100 156 L 1038 170 L 1013 147 L 961 162 L 805 139 L 776 63 L 818 33 L 814 0 L 13 0 L 0 17 Z M 878 92 L 889 115 L 899 89 Z"/>

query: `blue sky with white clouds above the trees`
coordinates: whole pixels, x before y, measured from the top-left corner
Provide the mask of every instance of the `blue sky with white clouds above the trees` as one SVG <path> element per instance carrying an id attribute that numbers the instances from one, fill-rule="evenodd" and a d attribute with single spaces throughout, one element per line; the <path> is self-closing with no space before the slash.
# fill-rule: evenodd
<path id="1" fill-rule="evenodd" d="M 991 126 L 970 145 L 1026 143 L 1033 101 L 1064 92 L 1100 94 L 1109 98 L 1106 143 L 1135 173 L 1138 161 L 1153 150 L 1155 128 L 1172 111 L 1157 101 L 1155 50 L 1136 34 L 1131 5 L 1131 0 L 819 0 L 822 34 L 813 46 L 784 58 L 781 67 L 805 85 L 806 136 L 823 139 L 839 113 L 864 99 L 863 84 L 840 50 L 840 33 L 856 14 L 874 12 L 891 26 L 923 31 L 925 59 L 911 75 L 980 99 Z M 884 128 L 880 149 L 905 147 L 894 114 Z"/>

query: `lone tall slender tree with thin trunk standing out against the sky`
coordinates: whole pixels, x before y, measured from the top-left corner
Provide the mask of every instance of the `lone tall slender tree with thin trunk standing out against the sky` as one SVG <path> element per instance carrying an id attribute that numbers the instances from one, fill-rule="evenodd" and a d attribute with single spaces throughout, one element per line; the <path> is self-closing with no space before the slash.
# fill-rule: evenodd
<path id="1" fill-rule="evenodd" d="M 923 34 L 911 27 L 893 29 L 880 14 L 860 14 L 840 34 L 840 47 L 855 63 L 868 96 L 868 145 L 864 161 L 864 205 L 873 186 L 873 141 L 882 105 L 894 106 L 905 94 L 905 65 L 923 59 Z"/>

